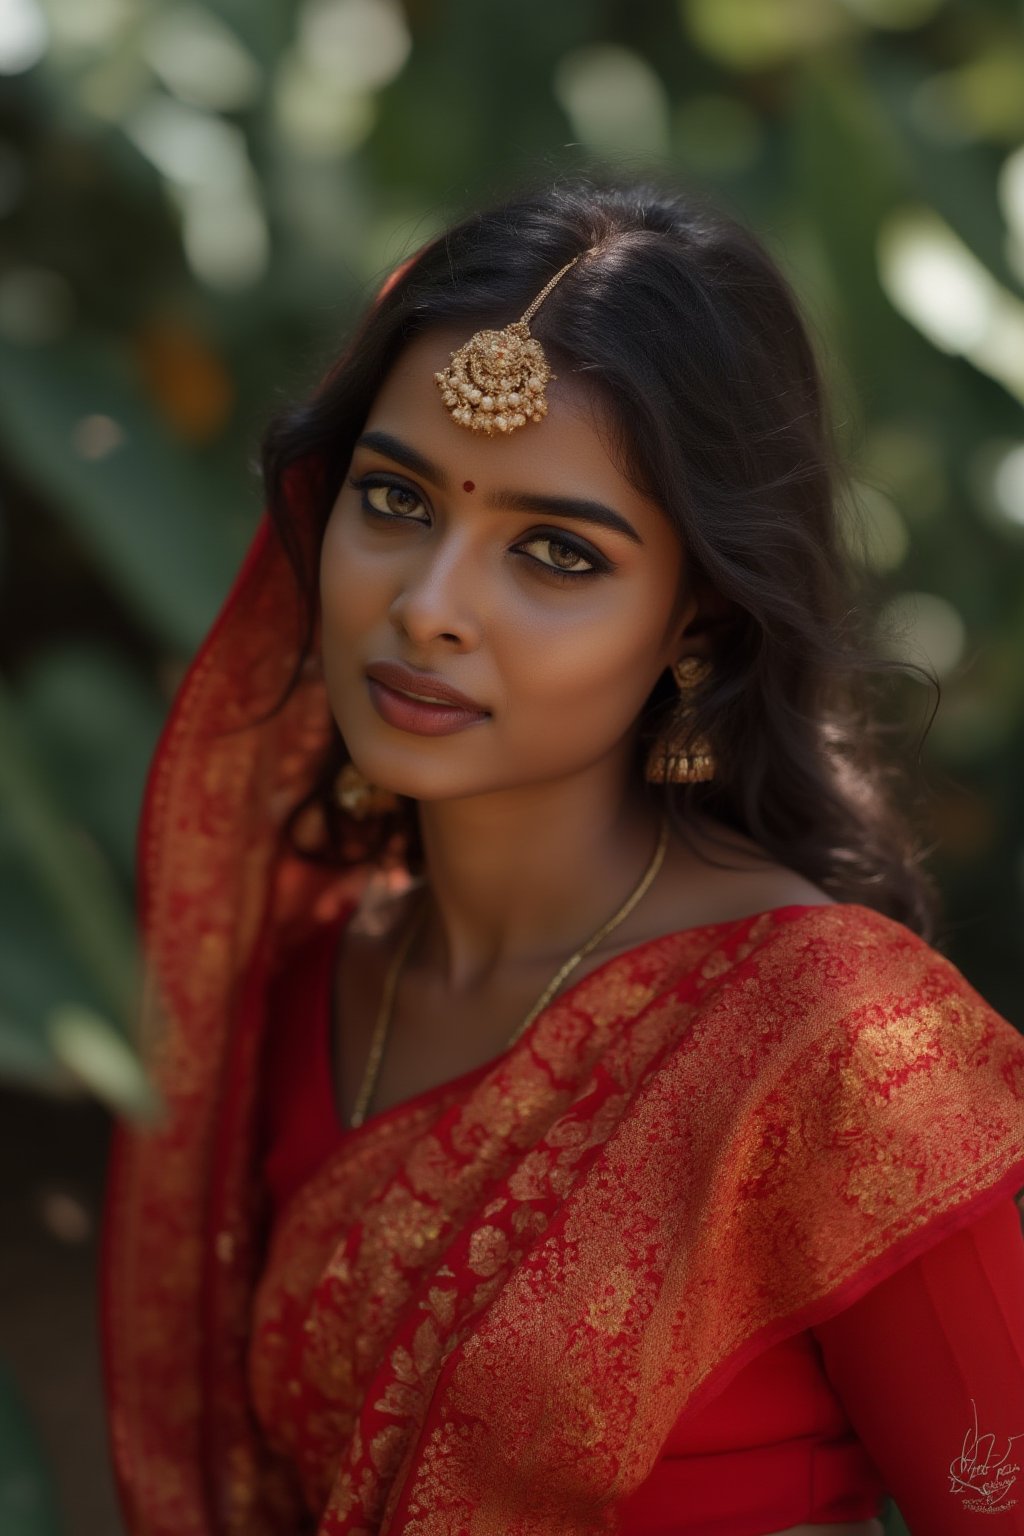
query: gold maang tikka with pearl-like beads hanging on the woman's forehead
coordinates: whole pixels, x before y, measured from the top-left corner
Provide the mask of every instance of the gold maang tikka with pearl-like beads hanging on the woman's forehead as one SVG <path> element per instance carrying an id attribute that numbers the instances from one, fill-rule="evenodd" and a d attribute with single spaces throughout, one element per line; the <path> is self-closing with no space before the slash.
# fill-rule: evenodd
<path id="1" fill-rule="evenodd" d="M 493 438 L 496 432 L 516 432 L 528 421 L 543 421 L 548 413 L 543 389 L 557 375 L 540 343 L 530 335 L 530 319 L 577 261 L 579 255 L 567 261 L 511 326 L 477 330 L 451 353 L 448 367 L 434 373 L 448 415 L 461 427 Z"/>

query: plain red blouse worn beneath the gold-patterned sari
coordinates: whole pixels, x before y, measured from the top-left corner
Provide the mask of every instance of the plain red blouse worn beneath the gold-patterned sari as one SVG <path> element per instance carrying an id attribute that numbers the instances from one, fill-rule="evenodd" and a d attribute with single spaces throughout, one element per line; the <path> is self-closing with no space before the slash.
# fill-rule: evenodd
<path id="1" fill-rule="evenodd" d="M 350 915 L 347 906 L 342 922 Z M 339 937 L 341 923 L 325 925 L 270 989 L 261 1160 L 278 1220 L 292 1200 L 302 1200 L 309 1181 L 313 1204 L 324 1198 L 316 1175 L 329 1158 L 336 1158 L 335 1201 L 359 1170 L 333 1097 L 330 1041 L 338 1023 L 330 1015 Z M 416 1103 L 436 1118 L 487 1069 L 430 1089 Z M 378 1157 L 387 1146 L 399 1167 L 416 1126 L 411 1109 L 407 1101 L 378 1117 Z M 393 1135 L 385 1134 L 388 1123 Z M 301 1247 L 309 1255 L 309 1229 Z M 270 1326 L 253 1330 L 250 1376 L 263 1384 L 269 1436 L 282 1419 L 292 1444 L 304 1442 L 295 1459 L 309 1468 L 310 1508 L 316 1508 L 335 1445 L 329 1439 L 318 1447 L 315 1436 L 304 1436 L 310 1399 L 302 1390 L 289 1393 L 304 1382 L 301 1344 L 315 1315 L 306 1303 L 316 1292 L 310 1276 L 309 1290 L 296 1293 L 292 1244 L 276 1249 L 281 1256 L 259 1284 L 258 1316 Z M 329 1230 L 324 1252 L 330 1249 Z M 1019 1530 L 1024 1478 L 1018 1479 L 1019 1453 L 1015 1462 L 1007 1450 L 1010 1427 L 1024 1428 L 1022 1399 L 1024 1236 L 1016 1206 L 1006 1198 L 860 1301 L 766 1349 L 702 1412 L 683 1412 L 649 1476 L 622 1505 L 622 1530 L 761 1536 L 801 1522 L 864 1519 L 878 1511 L 886 1491 L 913 1531 L 955 1536 L 958 1522 L 970 1528 L 978 1511 L 996 1531 Z M 963 1452 L 975 1412 L 999 1439 L 992 1453 L 998 1470 Z M 286 1448 L 292 1448 L 287 1441 Z"/>

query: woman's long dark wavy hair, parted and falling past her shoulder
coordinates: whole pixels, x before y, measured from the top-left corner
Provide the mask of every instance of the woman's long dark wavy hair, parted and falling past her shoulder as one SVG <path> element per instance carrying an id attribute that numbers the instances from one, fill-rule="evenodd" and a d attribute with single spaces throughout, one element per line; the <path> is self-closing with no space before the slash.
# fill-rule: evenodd
<path id="1" fill-rule="evenodd" d="M 866 579 L 844 536 L 844 470 L 821 369 L 768 250 L 685 187 L 577 174 L 464 218 L 399 270 L 315 393 L 272 416 L 264 495 L 306 627 L 289 687 L 313 645 L 319 541 L 388 369 L 431 329 L 456 326 L 468 338 L 519 318 L 583 252 L 531 330 L 556 372 L 579 373 L 597 392 L 616 462 L 665 510 L 688 576 L 720 596 L 725 614 L 712 633 L 712 676 L 688 696 L 686 719 L 692 739 L 711 743 L 715 779 L 648 783 L 646 793 L 691 846 L 700 813 L 837 900 L 932 937 L 935 883 L 903 803 L 906 763 L 883 750 L 894 728 L 875 700 L 877 682 L 907 664 L 874 641 Z M 289 487 L 304 459 L 318 470 L 306 481 L 302 535 Z M 642 710 L 645 751 L 679 703 L 666 670 Z M 398 846 L 421 871 L 415 800 L 399 797 L 396 811 L 362 823 L 339 809 L 332 791 L 348 754 L 335 737 L 290 819 L 293 846 L 339 866 Z M 299 845 L 312 806 L 319 836 Z"/>

